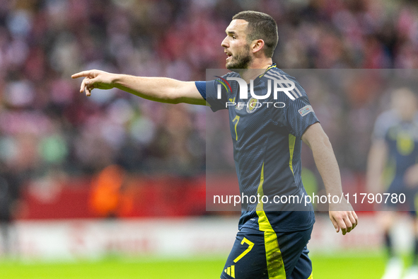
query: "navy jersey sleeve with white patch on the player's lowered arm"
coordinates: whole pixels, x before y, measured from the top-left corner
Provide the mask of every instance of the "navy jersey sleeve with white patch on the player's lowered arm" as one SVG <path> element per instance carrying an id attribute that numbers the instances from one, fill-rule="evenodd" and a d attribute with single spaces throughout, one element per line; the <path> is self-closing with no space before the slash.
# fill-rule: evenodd
<path id="1" fill-rule="evenodd" d="M 298 139 L 301 139 L 306 128 L 319 122 L 312 106 L 310 106 L 306 93 L 286 104 L 284 120 L 290 133 Z"/>

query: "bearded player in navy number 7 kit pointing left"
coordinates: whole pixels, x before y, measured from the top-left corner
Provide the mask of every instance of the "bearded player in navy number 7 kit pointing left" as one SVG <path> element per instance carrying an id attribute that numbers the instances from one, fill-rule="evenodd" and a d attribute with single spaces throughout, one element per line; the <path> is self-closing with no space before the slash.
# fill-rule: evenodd
<path id="1" fill-rule="evenodd" d="M 240 191 L 245 195 L 269 199 L 306 195 L 301 181 L 303 141 L 312 149 L 327 193 L 340 196 L 337 161 L 308 96 L 296 79 L 272 62 L 277 40 L 277 24 L 271 16 L 243 11 L 233 16 L 221 42 L 227 56 L 226 68 L 233 72 L 213 81 L 187 82 L 98 70 L 72 77 L 85 77 L 80 91 L 86 91 L 87 96 L 93 89 L 116 87 L 153 101 L 208 104 L 214 111 L 228 109 L 236 171 Z M 257 75 L 247 71 L 250 69 L 255 69 Z M 262 100 L 245 99 L 238 86 L 245 86 L 246 82 L 238 78 L 252 84 L 254 93 L 260 96 L 277 89 L 280 81 L 284 82 L 281 89 L 286 87 L 289 91 L 279 91 L 277 96 L 271 93 Z M 228 86 L 221 86 L 226 85 L 225 81 Z M 279 211 L 267 205 L 243 203 L 239 232 L 221 278 L 313 278 L 306 248 L 315 222 L 312 205 L 299 211 Z M 358 222 L 351 205 L 346 205 L 347 210 L 339 210 L 330 204 L 330 219 L 342 234 L 350 232 Z"/>

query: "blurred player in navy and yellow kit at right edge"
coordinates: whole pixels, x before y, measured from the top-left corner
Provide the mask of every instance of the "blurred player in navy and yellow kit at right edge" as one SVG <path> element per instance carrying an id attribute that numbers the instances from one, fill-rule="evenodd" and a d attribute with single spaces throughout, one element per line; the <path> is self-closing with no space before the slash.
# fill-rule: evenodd
<path id="1" fill-rule="evenodd" d="M 402 260 L 395 255 L 390 229 L 399 216 L 396 210 L 408 210 L 414 222 L 414 255 L 412 267 L 403 278 L 418 279 L 418 220 L 416 211 L 418 186 L 418 121 L 417 96 L 407 88 L 392 93 L 392 106 L 378 116 L 371 149 L 368 155 L 368 188 L 377 193 L 389 186 L 385 193 L 405 195 L 405 204 L 390 203 L 380 212 L 378 219 L 383 227 L 385 247 L 389 261 L 382 279 L 399 279 Z"/>

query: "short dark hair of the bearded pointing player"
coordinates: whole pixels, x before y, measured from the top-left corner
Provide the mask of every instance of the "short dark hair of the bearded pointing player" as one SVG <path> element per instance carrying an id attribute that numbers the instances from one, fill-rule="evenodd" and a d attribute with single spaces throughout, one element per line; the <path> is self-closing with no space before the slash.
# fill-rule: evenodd
<path id="1" fill-rule="evenodd" d="M 248 21 L 247 40 L 264 40 L 265 55 L 273 57 L 274 49 L 277 46 L 279 35 L 277 35 L 277 23 L 267 13 L 260 11 L 241 11 L 232 18 Z"/>

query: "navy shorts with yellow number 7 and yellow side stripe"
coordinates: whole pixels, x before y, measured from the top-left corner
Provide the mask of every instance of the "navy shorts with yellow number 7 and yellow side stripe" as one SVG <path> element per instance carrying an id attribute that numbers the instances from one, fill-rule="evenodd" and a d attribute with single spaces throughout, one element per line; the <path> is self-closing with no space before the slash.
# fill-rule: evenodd
<path id="1" fill-rule="evenodd" d="M 221 273 L 223 279 L 311 279 L 306 244 L 312 227 L 301 232 L 238 232 Z"/>

